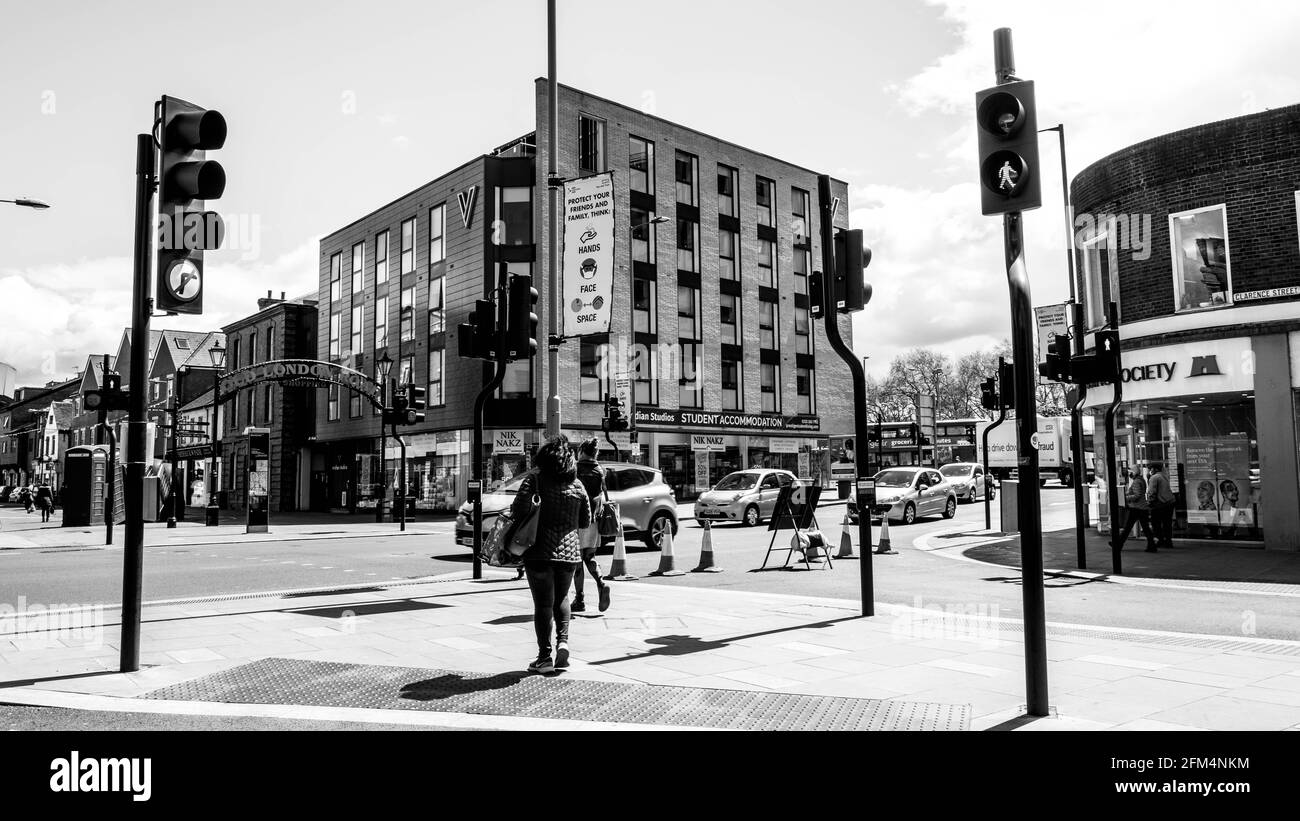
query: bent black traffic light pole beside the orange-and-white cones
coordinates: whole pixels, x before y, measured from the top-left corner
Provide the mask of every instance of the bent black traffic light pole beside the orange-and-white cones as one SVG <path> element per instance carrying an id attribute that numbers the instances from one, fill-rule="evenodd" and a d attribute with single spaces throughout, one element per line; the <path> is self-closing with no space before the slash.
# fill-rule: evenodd
<path id="1" fill-rule="evenodd" d="M 827 174 L 818 175 L 818 205 L 822 213 L 822 318 L 826 325 L 826 338 L 831 347 L 840 355 L 844 364 L 849 366 L 853 375 L 853 439 L 862 451 L 862 459 L 854 459 L 854 494 L 858 500 L 858 542 L 862 546 L 862 561 L 858 562 L 858 583 L 862 590 L 862 614 L 875 616 L 875 579 L 871 574 L 871 504 L 867 492 L 867 448 L 862 443 L 868 442 L 867 435 L 867 373 L 862 368 L 862 360 L 840 336 L 840 314 L 836 310 L 835 299 L 835 225 L 831 205 L 831 178 Z M 861 277 L 862 272 L 846 272 L 849 277 Z"/>

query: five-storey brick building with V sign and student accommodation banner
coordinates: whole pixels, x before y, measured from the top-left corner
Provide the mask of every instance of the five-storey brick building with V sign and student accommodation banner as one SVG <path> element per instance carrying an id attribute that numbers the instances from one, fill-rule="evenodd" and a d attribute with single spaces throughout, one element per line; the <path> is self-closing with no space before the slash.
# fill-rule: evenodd
<path id="1" fill-rule="evenodd" d="M 598 435 L 611 377 L 629 368 L 637 430 L 620 455 L 663 470 L 679 498 L 703 490 L 697 466 L 707 483 L 758 465 L 829 482 L 828 439 L 853 422 L 848 369 L 809 317 L 809 273 L 820 269 L 816 171 L 573 88 L 559 95 L 559 173 L 612 171 L 616 217 L 611 331 L 560 348 L 564 431 Z M 386 352 L 394 378 L 428 388 L 426 421 L 406 435 L 408 490 L 421 508 L 465 496 L 472 399 L 490 372 L 458 356 L 455 329 L 495 286 L 498 260 L 533 275 L 542 349 L 511 365 L 489 403 L 489 429 L 517 431 L 525 449 L 491 452 L 489 431 L 490 483 L 528 464 L 545 426 L 542 79 L 536 110 L 534 133 L 321 240 L 318 359 L 377 377 Z M 832 187 L 848 201 L 845 183 Z M 848 227 L 846 208 L 836 226 Z M 838 321 L 849 339 L 852 323 Z M 316 413 L 312 472 L 328 507 L 372 507 L 385 487 L 377 413 L 337 390 Z M 711 455 L 694 449 L 699 435 L 711 435 Z M 391 472 L 398 448 L 387 446 Z"/>

